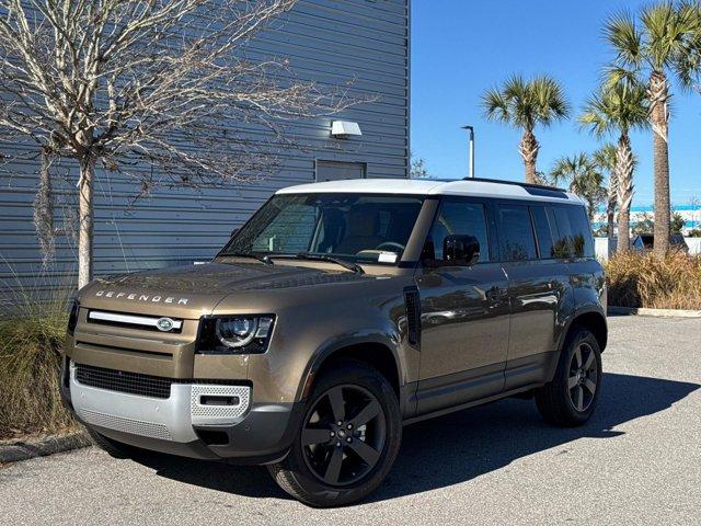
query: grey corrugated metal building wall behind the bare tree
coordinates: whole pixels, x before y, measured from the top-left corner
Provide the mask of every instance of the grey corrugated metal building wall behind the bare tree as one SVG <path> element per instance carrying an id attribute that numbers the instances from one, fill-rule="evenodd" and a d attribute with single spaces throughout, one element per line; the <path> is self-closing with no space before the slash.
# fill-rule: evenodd
<path id="1" fill-rule="evenodd" d="M 227 190 L 160 190 L 133 203 L 138 188 L 119 174 L 99 172 L 95 183 L 95 275 L 210 259 L 271 194 L 314 180 L 409 176 L 409 0 L 299 0 L 283 23 L 252 44 L 249 55 L 286 57 L 300 79 L 347 85 L 372 102 L 332 118 L 295 125 L 311 146 L 284 155 L 275 176 Z M 358 123 L 361 137 L 334 139 L 331 121 Z M 1 142 L 0 152 L 15 145 Z M 7 152 L 7 151 L 5 151 Z M 5 167 L 7 168 L 7 167 Z M 72 284 L 77 258 L 70 236 L 57 239 L 48 271 L 42 271 L 32 222 L 38 159 L 0 175 L 0 288 L 53 288 Z M 76 201 L 78 173 L 54 167 L 56 222 Z"/>

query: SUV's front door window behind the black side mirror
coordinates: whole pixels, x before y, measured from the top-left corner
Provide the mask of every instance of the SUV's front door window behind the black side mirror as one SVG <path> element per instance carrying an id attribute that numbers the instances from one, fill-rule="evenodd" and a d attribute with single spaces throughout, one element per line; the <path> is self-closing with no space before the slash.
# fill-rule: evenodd
<path id="1" fill-rule="evenodd" d="M 450 235 L 474 236 L 480 242 L 479 261 L 490 261 L 490 243 L 483 204 L 444 201 L 424 249 L 426 256 L 443 260 L 443 243 L 446 236 Z"/>

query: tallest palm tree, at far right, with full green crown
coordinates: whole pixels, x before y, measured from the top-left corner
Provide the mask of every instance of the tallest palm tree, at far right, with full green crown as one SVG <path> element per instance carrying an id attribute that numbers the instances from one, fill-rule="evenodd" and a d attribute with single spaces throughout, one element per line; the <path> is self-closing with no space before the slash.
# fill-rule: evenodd
<path id="1" fill-rule="evenodd" d="M 665 0 L 643 9 L 640 24 L 628 12 L 608 20 L 605 35 L 617 58 L 614 77 L 644 71 L 647 75 L 650 123 L 653 129 L 655 178 L 655 253 L 669 249 L 669 75 L 691 87 L 701 64 L 694 49 L 701 41 L 701 5 L 698 1 Z M 614 80 L 617 80 L 614 78 Z"/>

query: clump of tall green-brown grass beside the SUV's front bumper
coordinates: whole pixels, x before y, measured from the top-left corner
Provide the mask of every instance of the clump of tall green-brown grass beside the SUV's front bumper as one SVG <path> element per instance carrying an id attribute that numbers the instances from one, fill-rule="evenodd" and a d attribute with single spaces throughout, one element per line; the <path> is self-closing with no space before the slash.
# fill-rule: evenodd
<path id="1" fill-rule="evenodd" d="M 18 290 L 0 312 L 0 439 L 77 426 L 59 395 L 66 294 L 38 299 Z"/>

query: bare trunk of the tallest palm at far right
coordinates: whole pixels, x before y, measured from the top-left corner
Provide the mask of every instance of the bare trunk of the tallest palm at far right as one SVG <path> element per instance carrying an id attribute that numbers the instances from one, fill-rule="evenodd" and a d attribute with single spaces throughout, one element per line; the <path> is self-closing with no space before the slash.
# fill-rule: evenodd
<path id="1" fill-rule="evenodd" d="M 655 254 L 664 256 L 669 250 L 669 147 L 667 101 L 669 88 L 662 72 L 650 77 L 650 121 L 653 127 L 653 170 L 655 176 Z"/>

